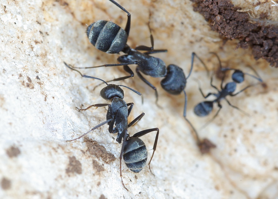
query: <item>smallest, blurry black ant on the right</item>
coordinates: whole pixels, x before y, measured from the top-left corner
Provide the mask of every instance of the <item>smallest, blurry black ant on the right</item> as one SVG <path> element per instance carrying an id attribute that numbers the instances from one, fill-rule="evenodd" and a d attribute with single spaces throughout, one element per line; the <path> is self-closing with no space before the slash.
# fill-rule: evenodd
<path id="1" fill-rule="evenodd" d="M 235 109 L 238 109 L 239 111 L 243 112 L 241 109 L 239 109 L 238 107 L 232 105 L 227 99 L 226 97 L 228 95 L 230 96 L 235 96 L 235 95 L 238 95 L 239 93 L 241 93 L 242 91 L 246 90 L 247 88 L 251 87 L 251 86 L 255 86 L 257 85 L 258 83 L 255 83 L 255 84 L 251 84 L 251 85 L 248 85 L 246 86 L 245 88 L 243 88 L 242 90 L 238 91 L 237 93 L 234 93 L 235 89 L 236 89 L 236 84 L 237 83 L 241 83 L 244 81 L 244 75 L 249 75 L 249 76 L 252 76 L 253 78 L 259 80 L 260 82 L 262 82 L 262 79 L 259 78 L 259 77 L 255 77 L 254 75 L 250 75 L 248 73 L 243 73 L 241 70 L 238 70 L 238 69 L 231 69 L 231 68 L 222 68 L 221 66 L 221 61 L 218 57 L 218 55 L 216 53 L 212 53 L 214 55 L 217 56 L 217 59 L 219 61 L 219 65 L 220 65 L 220 69 L 221 71 L 228 71 L 228 70 L 234 70 L 234 73 L 232 75 L 232 79 L 233 79 L 233 82 L 229 82 L 225 85 L 225 87 L 223 88 L 223 82 L 224 82 L 224 79 L 225 79 L 225 75 L 223 75 L 222 77 L 222 81 L 221 81 L 221 90 L 218 90 L 218 88 L 216 86 L 214 86 L 212 84 L 212 81 L 213 81 L 213 77 L 211 77 L 211 81 L 210 81 L 210 85 L 215 88 L 217 90 L 217 93 L 208 93 L 208 95 L 204 95 L 203 91 L 201 90 L 200 88 L 200 85 L 199 85 L 199 90 L 201 92 L 201 94 L 203 95 L 203 97 L 206 99 L 208 96 L 210 95 L 214 95 L 216 97 L 216 99 L 212 100 L 212 101 L 203 101 L 203 102 L 200 102 L 199 104 L 197 104 L 195 107 L 194 107 L 194 113 L 197 115 L 197 116 L 200 116 L 200 117 L 203 117 L 203 116 L 207 116 L 209 113 L 212 112 L 212 109 L 213 109 L 213 104 L 214 103 L 217 103 L 219 109 L 218 111 L 216 112 L 216 114 L 213 116 L 213 118 L 211 120 L 209 120 L 204 126 L 206 126 L 207 124 L 209 124 L 212 120 L 214 120 L 214 118 L 218 115 L 219 111 L 221 110 L 222 106 L 220 104 L 220 101 L 222 99 L 225 99 L 226 102 L 233 108 Z M 251 67 L 252 68 L 252 67 Z M 253 68 L 252 68 L 253 71 L 255 71 Z M 255 71 L 256 75 L 257 72 Z M 259 76 L 259 75 L 258 75 Z M 233 94 L 234 93 L 234 94 Z M 243 112 L 245 113 L 245 112 Z M 246 113 L 245 113 L 246 114 Z M 248 114 L 247 114 L 248 115 Z M 204 127 L 203 126 L 203 127 Z"/>

